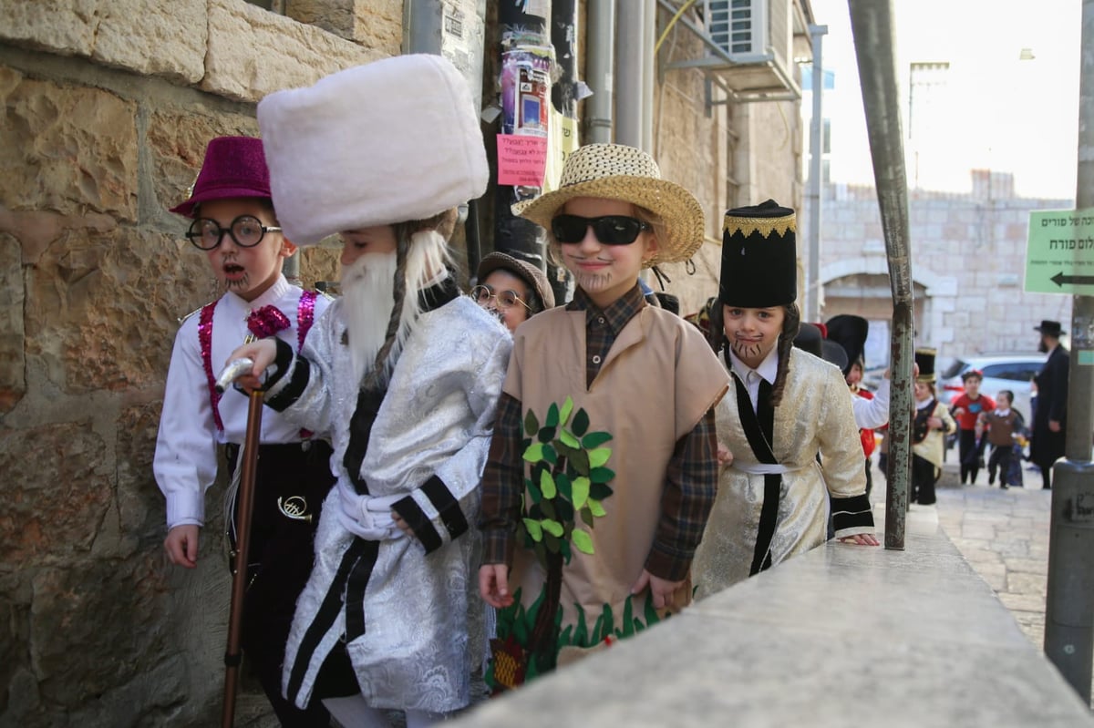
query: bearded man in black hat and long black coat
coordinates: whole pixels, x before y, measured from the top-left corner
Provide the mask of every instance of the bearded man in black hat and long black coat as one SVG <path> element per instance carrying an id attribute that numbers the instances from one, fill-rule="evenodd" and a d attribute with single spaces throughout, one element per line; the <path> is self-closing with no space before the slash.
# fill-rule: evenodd
<path id="1" fill-rule="evenodd" d="M 1068 350 L 1060 345 L 1059 321 L 1041 321 L 1034 330 L 1040 331 L 1039 351 L 1048 353 L 1048 361 L 1034 384 L 1037 385 L 1037 409 L 1033 414 L 1033 439 L 1029 459 L 1040 468 L 1043 488 L 1052 486 L 1052 463 L 1063 457 L 1064 428 L 1068 422 Z"/>

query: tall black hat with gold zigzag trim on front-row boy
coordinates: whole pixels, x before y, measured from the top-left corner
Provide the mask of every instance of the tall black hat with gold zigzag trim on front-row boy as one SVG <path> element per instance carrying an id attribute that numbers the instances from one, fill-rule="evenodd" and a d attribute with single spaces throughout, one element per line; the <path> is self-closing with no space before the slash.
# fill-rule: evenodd
<path id="1" fill-rule="evenodd" d="M 718 300 L 726 306 L 768 308 L 798 298 L 794 211 L 775 200 L 728 210 L 722 225 Z"/>

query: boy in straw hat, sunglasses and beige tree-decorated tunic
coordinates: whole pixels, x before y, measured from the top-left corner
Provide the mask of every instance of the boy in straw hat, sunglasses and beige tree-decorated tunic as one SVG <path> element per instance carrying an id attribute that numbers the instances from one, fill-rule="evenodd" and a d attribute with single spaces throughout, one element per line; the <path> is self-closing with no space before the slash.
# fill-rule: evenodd
<path id="1" fill-rule="evenodd" d="M 699 203 L 650 155 L 582 146 L 558 190 L 514 211 L 547 228 L 578 287 L 514 332 L 484 474 L 496 691 L 687 606 L 726 387 L 698 330 L 638 285 L 702 244 Z"/>

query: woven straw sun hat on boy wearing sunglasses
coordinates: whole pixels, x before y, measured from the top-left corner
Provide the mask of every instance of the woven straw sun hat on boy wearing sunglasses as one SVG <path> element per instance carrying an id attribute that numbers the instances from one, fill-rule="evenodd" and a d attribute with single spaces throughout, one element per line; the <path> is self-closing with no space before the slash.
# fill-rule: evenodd
<path id="1" fill-rule="evenodd" d="M 586 144 L 566 160 L 557 190 L 517 202 L 513 214 L 550 230 L 559 209 L 577 197 L 622 200 L 660 215 L 668 239 L 657 239 L 657 251 L 645 267 L 687 260 L 702 245 L 703 214 L 699 201 L 679 185 L 661 178 L 661 169 L 645 152 L 622 144 Z"/>

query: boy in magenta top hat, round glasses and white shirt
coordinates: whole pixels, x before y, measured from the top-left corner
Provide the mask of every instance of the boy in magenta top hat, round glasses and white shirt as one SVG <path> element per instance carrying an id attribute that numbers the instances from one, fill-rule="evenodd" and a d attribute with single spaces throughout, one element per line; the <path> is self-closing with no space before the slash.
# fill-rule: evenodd
<path id="1" fill-rule="evenodd" d="M 218 446 L 224 446 L 228 472 L 237 474 L 246 431 L 246 396 L 233 389 L 218 394 L 217 374 L 251 338 L 277 336 L 299 348 L 328 301 L 291 285 L 281 273 L 296 248 L 278 226 L 260 140 L 210 141 L 190 196 L 172 212 L 191 219 L 186 237 L 225 290 L 188 316 L 175 338 L 153 463 L 167 502 L 164 548 L 172 563 L 194 568 L 205 493 L 220 467 Z M 300 711 L 281 697 L 280 686 L 293 609 L 312 566 L 319 505 L 333 482 L 330 448 L 267 413 L 259 453 L 243 650 L 282 725 L 326 726 L 329 717 L 321 705 Z M 233 544 L 234 491 L 228 504 L 232 518 L 225 518 Z"/>

